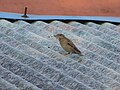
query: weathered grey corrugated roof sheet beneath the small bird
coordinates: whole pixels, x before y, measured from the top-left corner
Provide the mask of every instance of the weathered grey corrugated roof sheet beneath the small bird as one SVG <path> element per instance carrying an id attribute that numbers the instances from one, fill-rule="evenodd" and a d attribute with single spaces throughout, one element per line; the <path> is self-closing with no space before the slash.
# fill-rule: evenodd
<path id="1" fill-rule="evenodd" d="M 83 52 L 64 56 L 53 35 Z M 120 26 L 0 20 L 0 90 L 120 90 Z"/>

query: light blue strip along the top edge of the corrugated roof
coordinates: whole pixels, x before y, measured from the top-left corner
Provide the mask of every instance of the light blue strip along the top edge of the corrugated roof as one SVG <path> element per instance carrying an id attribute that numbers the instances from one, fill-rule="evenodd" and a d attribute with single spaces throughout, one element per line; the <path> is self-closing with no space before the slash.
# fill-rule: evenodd
<path id="1" fill-rule="evenodd" d="M 58 16 L 58 15 L 33 15 L 27 14 L 29 18 L 21 17 L 23 14 L 0 12 L 1 19 L 13 20 L 91 20 L 91 21 L 108 21 L 120 23 L 120 17 L 107 16 Z"/>

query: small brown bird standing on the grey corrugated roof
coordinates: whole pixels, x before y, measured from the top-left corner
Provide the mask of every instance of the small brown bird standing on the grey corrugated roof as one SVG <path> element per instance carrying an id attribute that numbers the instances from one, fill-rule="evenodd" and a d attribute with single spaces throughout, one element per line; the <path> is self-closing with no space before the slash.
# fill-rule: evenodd
<path id="1" fill-rule="evenodd" d="M 54 35 L 54 37 L 56 37 L 59 40 L 60 45 L 65 51 L 68 52 L 68 54 L 74 53 L 83 56 L 81 51 L 78 50 L 78 48 L 73 44 L 73 42 L 69 40 L 67 37 L 65 37 L 63 34 L 57 34 Z"/>

